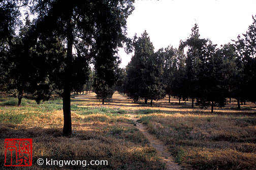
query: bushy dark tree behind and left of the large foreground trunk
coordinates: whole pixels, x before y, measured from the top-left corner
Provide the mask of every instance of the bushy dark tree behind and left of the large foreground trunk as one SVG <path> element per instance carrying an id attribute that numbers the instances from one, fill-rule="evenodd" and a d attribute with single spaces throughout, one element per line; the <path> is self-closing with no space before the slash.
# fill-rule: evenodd
<path id="1" fill-rule="evenodd" d="M 35 25 L 28 16 L 25 25 L 15 36 L 10 46 L 7 61 L 9 90 L 18 91 L 18 106 L 24 92 L 35 96 L 37 103 L 41 100 L 49 100 L 51 92 L 55 89 L 54 80 L 59 75 L 61 58 L 63 58 L 63 46 L 56 36 L 44 40 L 34 36 L 31 31 Z"/>

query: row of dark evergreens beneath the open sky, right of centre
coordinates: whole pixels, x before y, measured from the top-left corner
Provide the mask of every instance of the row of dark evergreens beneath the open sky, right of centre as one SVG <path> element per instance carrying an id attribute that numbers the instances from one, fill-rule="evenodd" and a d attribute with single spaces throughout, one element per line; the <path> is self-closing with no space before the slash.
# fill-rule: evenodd
<path id="1" fill-rule="evenodd" d="M 135 54 L 122 73 L 119 89 L 138 101 L 159 100 L 169 95 L 192 100 L 202 106 L 222 107 L 226 99 L 256 102 L 256 20 L 237 41 L 226 45 L 212 44 L 201 38 L 198 25 L 190 36 L 180 41 L 178 49 L 167 47 L 154 52 L 146 31 L 137 37 Z M 185 51 L 185 52 L 184 52 Z M 120 84 L 120 83 L 119 83 Z M 122 87 L 122 88 L 120 88 Z"/>

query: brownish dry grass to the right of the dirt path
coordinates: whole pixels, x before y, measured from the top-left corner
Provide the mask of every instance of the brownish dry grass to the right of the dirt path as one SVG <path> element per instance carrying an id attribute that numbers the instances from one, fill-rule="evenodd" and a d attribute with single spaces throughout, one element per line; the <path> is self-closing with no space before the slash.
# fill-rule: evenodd
<path id="1" fill-rule="evenodd" d="M 256 117 L 176 113 L 140 120 L 177 162 L 195 169 L 256 169 Z"/>

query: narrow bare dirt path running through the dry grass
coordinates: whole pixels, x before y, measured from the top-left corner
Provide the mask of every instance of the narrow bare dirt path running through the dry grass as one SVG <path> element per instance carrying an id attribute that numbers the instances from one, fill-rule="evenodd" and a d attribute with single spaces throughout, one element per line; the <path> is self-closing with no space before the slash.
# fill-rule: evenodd
<path id="1" fill-rule="evenodd" d="M 137 121 L 136 114 L 129 114 L 134 121 Z M 173 156 L 168 151 L 168 148 L 162 141 L 155 138 L 153 135 L 149 134 L 147 127 L 142 123 L 137 122 L 136 127 L 143 133 L 143 135 L 150 142 L 150 146 L 155 148 L 159 158 L 162 159 L 163 162 L 166 163 L 166 169 L 168 170 L 181 170 L 184 169 L 178 163 L 175 163 Z"/>

